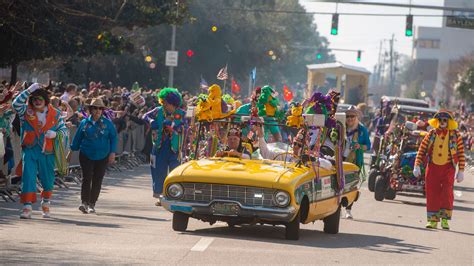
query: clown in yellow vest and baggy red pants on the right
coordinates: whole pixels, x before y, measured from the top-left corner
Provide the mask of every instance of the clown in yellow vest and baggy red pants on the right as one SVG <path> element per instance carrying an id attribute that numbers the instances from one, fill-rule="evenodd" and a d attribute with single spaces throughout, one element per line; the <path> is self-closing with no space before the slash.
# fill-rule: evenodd
<path id="1" fill-rule="evenodd" d="M 448 220 L 453 212 L 453 185 L 456 173 L 458 183 L 464 179 L 464 147 L 453 115 L 440 110 L 428 121 L 433 127 L 423 139 L 416 155 L 413 175 L 421 175 L 420 166 L 426 161 L 425 190 L 428 223 L 435 229 L 441 218 L 441 227 L 449 230 Z"/>

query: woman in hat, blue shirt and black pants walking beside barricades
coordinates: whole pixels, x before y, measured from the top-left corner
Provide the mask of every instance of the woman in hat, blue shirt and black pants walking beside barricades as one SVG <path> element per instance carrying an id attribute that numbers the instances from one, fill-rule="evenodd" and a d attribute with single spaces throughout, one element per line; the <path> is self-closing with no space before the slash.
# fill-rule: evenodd
<path id="1" fill-rule="evenodd" d="M 105 170 L 108 164 L 115 162 L 117 131 L 112 121 L 103 116 L 105 105 L 101 99 L 92 99 L 88 109 L 90 116 L 81 121 L 72 140 L 71 150 L 80 151 L 82 204 L 79 210 L 95 213 Z M 71 153 L 67 157 L 70 160 Z"/>

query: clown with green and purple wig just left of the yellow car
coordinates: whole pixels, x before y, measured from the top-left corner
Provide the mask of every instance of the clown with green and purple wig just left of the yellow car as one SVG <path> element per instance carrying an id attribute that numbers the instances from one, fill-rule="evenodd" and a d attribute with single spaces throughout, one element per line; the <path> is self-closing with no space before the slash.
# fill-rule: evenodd
<path id="1" fill-rule="evenodd" d="M 144 115 L 152 130 L 153 148 L 150 156 L 153 197 L 156 206 L 161 206 L 163 183 L 168 172 L 179 165 L 183 133 L 184 111 L 181 94 L 173 88 L 164 88 L 158 94 L 161 106 Z"/>

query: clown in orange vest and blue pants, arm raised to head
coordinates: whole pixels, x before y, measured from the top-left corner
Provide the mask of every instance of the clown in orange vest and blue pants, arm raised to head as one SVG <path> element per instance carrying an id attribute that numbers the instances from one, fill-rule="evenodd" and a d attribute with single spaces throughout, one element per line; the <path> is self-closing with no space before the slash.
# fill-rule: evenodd
<path id="1" fill-rule="evenodd" d="M 43 217 L 49 218 L 49 200 L 55 179 L 54 139 L 58 134 L 66 136 L 66 125 L 61 118 L 61 112 L 49 104 L 48 92 L 40 88 L 38 83 L 20 93 L 12 105 L 21 121 L 23 209 L 20 218 L 31 218 L 31 205 L 36 202 L 37 176 L 43 187 L 41 192 Z"/>

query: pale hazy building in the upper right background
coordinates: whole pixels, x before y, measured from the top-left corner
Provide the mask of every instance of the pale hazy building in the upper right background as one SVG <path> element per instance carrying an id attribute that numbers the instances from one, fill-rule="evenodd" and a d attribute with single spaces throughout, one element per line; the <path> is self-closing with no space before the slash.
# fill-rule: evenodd
<path id="1" fill-rule="evenodd" d="M 444 5 L 474 9 L 473 0 L 445 0 Z M 445 11 L 445 15 L 464 15 L 474 19 L 472 13 Z M 446 20 L 443 17 L 442 27 L 416 27 L 414 32 L 415 69 L 423 80 L 423 90 L 437 103 L 452 98 L 444 84 L 450 63 L 474 52 L 474 29 L 446 27 Z"/>

